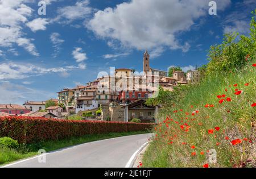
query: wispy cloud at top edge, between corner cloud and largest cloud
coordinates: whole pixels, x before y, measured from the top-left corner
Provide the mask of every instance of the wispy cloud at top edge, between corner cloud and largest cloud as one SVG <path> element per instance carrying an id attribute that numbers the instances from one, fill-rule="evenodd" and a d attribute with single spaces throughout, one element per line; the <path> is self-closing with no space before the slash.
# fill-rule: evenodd
<path id="1" fill-rule="evenodd" d="M 93 11 L 89 3 L 89 0 L 83 0 L 76 2 L 74 6 L 60 7 L 53 21 L 68 24 L 77 19 L 86 19 Z"/>

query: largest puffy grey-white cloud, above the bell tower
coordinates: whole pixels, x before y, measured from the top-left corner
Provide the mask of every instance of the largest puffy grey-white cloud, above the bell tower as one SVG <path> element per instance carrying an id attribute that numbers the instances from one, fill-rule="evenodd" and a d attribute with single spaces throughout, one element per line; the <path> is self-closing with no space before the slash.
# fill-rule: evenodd
<path id="1" fill-rule="evenodd" d="M 218 10 L 224 10 L 230 0 L 217 4 Z M 100 38 L 138 50 L 168 47 L 187 52 L 190 45 L 180 43 L 176 35 L 189 31 L 195 20 L 208 15 L 208 9 L 205 0 L 133 0 L 97 11 L 86 27 Z"/>

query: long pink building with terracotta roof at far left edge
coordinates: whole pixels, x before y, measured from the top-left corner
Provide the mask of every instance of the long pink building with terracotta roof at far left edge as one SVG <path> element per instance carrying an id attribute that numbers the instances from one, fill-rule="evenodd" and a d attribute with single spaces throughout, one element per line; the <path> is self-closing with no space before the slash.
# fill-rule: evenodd
<path id="1" fill-rule="evenodd" d="M 0 113 L 8 113 L 8 114 L 26 114 L 30 113 L 30 109 L 27 109 L 24 106 L 13 105 L 13 104 L 0 104 Z"/>

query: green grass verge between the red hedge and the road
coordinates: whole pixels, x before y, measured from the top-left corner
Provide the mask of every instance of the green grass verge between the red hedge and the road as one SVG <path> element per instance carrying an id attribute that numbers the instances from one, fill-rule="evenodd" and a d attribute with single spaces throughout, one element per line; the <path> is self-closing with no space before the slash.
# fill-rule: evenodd
<path id="1" fill-rule="evenodd" d="M 147 131 L 138 131 L 138 132 L 121 132 L 121 133 L 110 133 L 110 134 L 98 134 L 98 135 L 85 135 L 80 138 L 70 138 L 65 140 L 57 141 L 46 141 L 40 144 L 47 152 L 54 151 L 56 149 L 69 147 L 72 145 L 88 143 L 90 141 L 117 138 L 127 135 L 136 135 L 136 134 L 146 134 Z M 28 147 L 30 152 L 16 151 L 14 149 L 0 148 L 0 165 L 10 163 L 11 161 L 24 159 L 26 157 L 31 157 L 38 154 L 38 149 L 35 147 Z"/>

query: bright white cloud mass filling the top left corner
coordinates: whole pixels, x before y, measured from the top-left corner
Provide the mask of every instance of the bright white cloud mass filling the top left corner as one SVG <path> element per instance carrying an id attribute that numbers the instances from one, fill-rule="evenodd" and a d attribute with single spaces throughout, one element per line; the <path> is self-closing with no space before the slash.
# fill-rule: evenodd
<path id="1" fill-rule="evenodd" d="M 0 0 L 0 47 L 11 47 L 18 44 L 32 55 L 38 56 L 31 39 L 25 38 L 23 24 L 31 16 L 32 9 L 25 5 L 26 0 Z"/>

